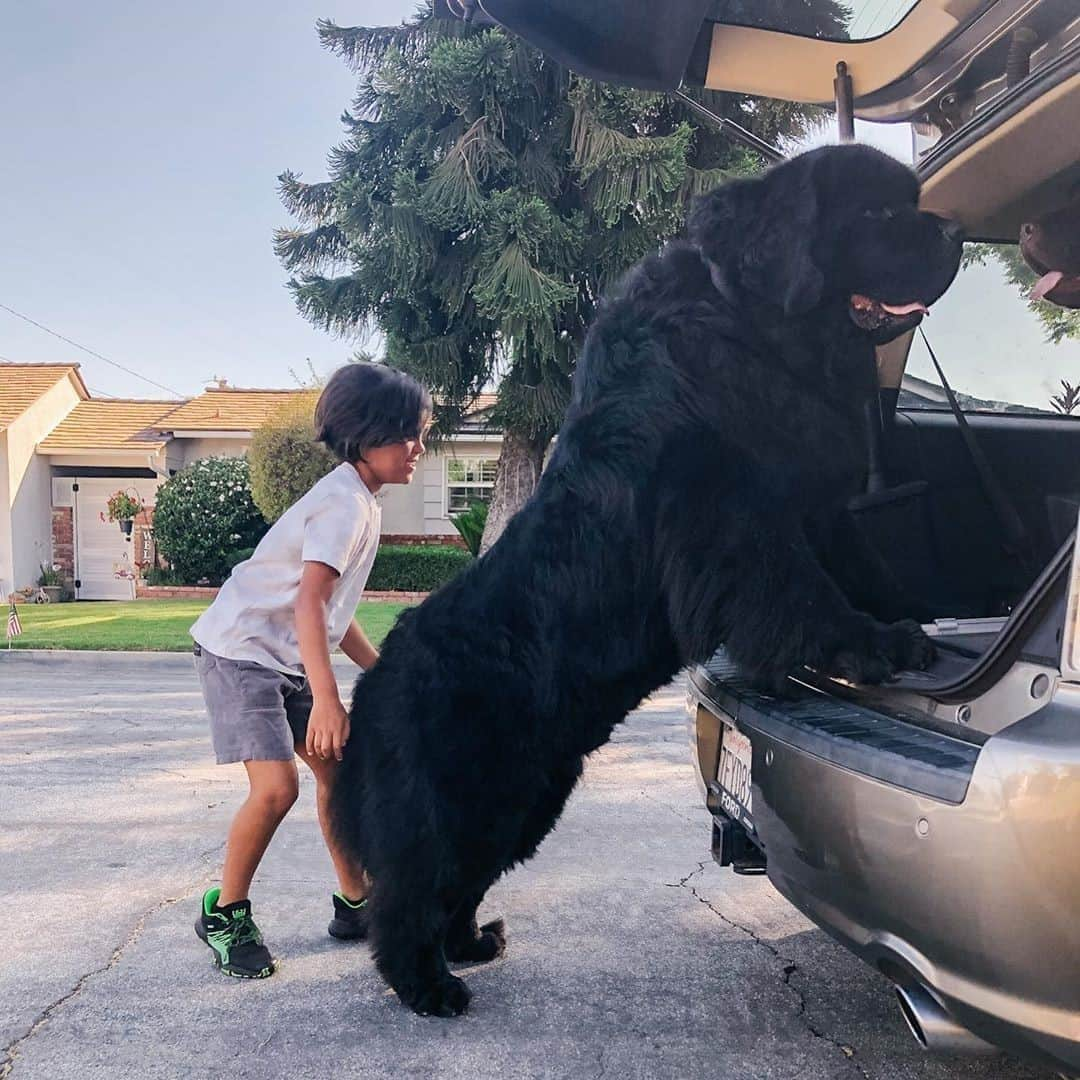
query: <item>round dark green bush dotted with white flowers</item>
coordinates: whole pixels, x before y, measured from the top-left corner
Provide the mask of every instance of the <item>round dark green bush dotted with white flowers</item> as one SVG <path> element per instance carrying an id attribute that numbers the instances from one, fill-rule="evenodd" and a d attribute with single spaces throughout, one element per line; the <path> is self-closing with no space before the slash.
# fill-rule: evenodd
<path id="1" fill-rule="evenodd" d="M 219 584 L 266 530 L 244 458 L 204 458 L 158 489 L 153 538 L 185 584 Z"/>

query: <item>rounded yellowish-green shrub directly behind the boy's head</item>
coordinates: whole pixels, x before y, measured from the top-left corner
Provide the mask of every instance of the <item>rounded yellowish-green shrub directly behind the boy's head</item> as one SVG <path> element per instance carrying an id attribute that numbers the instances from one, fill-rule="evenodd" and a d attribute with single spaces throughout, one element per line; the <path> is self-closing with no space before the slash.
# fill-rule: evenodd
<path id="1" fill-rule="evenodd" d="M 322 443 L 315 442 L 318 401 L 314 391 L 286 397 L 252 435 L 247 450 L 252 498 L 268 522 L 278 521 L 338 463 Z"/>

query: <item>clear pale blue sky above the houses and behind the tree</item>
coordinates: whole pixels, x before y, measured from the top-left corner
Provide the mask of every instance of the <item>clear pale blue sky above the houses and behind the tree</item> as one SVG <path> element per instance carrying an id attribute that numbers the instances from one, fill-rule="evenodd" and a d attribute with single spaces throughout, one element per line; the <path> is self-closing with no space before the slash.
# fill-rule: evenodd
<path id="1" fill-rule="evenodd" d="M 411 0 L 36 0 L 0 38 L 0 305 L 180 394 L 213 376 L 287 387 L 354 342 L 316 330 L 285 289 L 271 237 L 285 168 L 325 175 L 355 80 L 321 49 L 319 17 L 397 23 Z M 910 159 L 908 131 L 860 137 Z M 827 137 L 827 133 L 821 137 Z M 1080 379 L 1080 343 L 1045 346 L 994 269 L 928 325 L 958 389 L 1044 404 Z M 996 322 L 997 321 L 997 322 Z M 164 391 L 0 310 L 0 357 L 71 361 L 96 393 Z M 926 374 L 918 357 L 913 369 Z"/>

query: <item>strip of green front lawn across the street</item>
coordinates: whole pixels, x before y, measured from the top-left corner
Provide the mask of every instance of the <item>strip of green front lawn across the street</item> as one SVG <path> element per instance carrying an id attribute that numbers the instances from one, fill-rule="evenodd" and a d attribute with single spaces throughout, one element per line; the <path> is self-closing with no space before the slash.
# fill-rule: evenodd
<path id="1" fill-rule="evenodd" d="M 378 645 L 403 604 L 364 603 L 356 619 Z M 21 604 L 23 634 L 15 649 L 137 649 L 184 652 L 191 648 L 188 627 L 205 600 L 83 600 L 75 604 Z M 0 640 L 0 648 L 6 642 Z"/>

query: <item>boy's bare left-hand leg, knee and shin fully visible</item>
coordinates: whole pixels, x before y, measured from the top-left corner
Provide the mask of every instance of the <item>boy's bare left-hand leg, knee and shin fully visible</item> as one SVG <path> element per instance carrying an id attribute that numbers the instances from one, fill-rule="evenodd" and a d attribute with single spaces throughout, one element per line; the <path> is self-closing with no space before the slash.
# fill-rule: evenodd
<path id="1" fill-rule="evenodd" d="M 299 792 L 295 761 L 245 761 L 244 768 L 251 791 L 229 829 L 217 900 L 221 907 L 247 897 L 259 861 Z"/>

